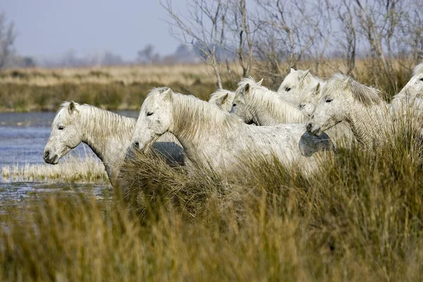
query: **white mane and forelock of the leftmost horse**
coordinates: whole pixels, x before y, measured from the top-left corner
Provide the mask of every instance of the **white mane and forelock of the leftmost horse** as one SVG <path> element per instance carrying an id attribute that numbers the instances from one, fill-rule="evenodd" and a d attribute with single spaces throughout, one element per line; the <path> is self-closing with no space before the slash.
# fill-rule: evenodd
<path id="1" fill-rule="evenodd" d="M 59 116 L 63 117 L 63 121 L 68 121 L 68 118 L 70 118 L 68 114 L 68 106 L 70 103 L 71 102 L 63 102 L 63 104 L 61 104 L 61 109 L 59 109 L 54 117 L 52 126 L 56 124 Z M 124 142 L 132 135 L 136 123 L 135 118 L 121 116 L 88 104 L 78 104 L 75 102 L 74 104 L 75 109 L 81 116 L 81 130 L 92 128 L 99 134 L 98 137 L 102 139 L 113 135 L 121 142 Z"/>

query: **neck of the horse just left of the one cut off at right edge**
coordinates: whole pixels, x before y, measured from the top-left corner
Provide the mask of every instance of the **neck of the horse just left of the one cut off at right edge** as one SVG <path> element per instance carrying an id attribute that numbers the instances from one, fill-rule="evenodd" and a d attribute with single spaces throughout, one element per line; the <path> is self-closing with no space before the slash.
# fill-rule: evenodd
<path id="1" fill-rule="evenodd" d="M 355 139 L 364 147 L 378 146 L 383 140 L 389 125 L 384 107 L 384 104 L 364 106 L 357 102 L 351 107 L 347 121 Z"/>

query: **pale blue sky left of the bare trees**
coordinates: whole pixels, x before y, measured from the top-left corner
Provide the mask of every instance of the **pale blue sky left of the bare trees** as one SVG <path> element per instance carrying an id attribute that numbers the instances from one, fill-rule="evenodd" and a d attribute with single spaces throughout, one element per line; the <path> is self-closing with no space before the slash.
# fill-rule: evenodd
<path id="1" fill-rule="evenodd" d="M 184 0 L 173 8 L 185 10 Z M 1 0 L 16 25 L 16 50 L 24 56 L 50 56 L 75 49 L 78 55 L 108 50 L 123 59 L 151 43 L 160 54 L 178 42 L 168 34 L 159 0 Z"/>

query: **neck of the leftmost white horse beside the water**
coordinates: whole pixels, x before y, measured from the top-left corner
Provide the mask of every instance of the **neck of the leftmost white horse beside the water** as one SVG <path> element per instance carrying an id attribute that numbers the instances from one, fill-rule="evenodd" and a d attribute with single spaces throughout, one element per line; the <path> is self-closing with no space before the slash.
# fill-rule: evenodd
<path id="1" fill-rule="evenodd" d="M 111 146 L 128 146 L 135 120 L 90 106 L 81 107 L 82 142 L 109 165 L 115 161 Z M 129 125 L 129 126 L 128 126 Z"/>

